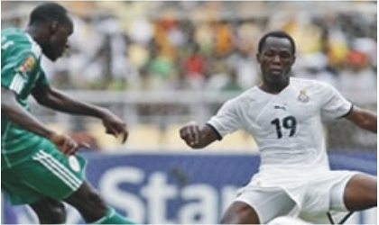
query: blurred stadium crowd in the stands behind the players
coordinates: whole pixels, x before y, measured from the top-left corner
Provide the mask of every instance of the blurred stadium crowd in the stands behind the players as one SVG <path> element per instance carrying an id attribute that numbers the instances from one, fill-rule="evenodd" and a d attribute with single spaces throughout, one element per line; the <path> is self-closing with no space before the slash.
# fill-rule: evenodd
<path id="1" fill-rule="evenodd" d="M 376 90 L 376 11 L 367 10 L 376 2 L 63 4 L 76 15 L 69 57 L 44 61 L 63 89 L 242 91 L 260 79 L 256 40 L 284 30 L 299 43 L 293 76 L 343 92 Z M 11 18 L 3 16 L 3 26 L 26 19 Z"/>

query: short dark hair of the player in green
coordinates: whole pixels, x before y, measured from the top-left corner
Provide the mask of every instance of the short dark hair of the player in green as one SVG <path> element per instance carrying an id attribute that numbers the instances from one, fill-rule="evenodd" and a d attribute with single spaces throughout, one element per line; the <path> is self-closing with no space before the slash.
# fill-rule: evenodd
<path id="1" fill-rule="evenodd" d="M 58 23 L 68 23 L 69 16 L 65 7 L 56 3 L 44 3 L 36 6 L 29 18 L 29 25 L 38 25 L 56 21 Z"/>

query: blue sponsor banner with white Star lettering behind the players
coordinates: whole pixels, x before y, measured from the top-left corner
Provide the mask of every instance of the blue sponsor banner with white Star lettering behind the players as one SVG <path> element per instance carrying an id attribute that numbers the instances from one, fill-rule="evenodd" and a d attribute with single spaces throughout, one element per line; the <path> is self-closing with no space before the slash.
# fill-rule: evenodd
<path id="1" fill-rule="evenodd" d="M 106 202 L 139 223 L 218 223 L 222 212 L 259 166 L 256 155 L 89 153 L 87 178 Z M 330 156 L 333 169 L 376 175 L 376 154 Z M 3 223 L 35 223 L 24 206 L 3 202 Z M 68 206 L 68 223 L 84 223 Z M 352 223 L 376 223 L 376 209 L 356 212 Z"/>

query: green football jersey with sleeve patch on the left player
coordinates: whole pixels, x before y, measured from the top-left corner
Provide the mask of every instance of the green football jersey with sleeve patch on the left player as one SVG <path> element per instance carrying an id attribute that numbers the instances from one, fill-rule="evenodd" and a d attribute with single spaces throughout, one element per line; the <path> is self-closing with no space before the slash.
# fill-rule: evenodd
<path id="1" fill-rule="evenodd" d="M 42 49 L 32 37 L 21 30 L 7 28 L 1 31 L 1 85 L 12 90 L 17 102 L 30 110 L 28 96 L 36 85 L 49 85 L 41 67 Z M 1 117 L 1 167 L 8 168 L 23 162 L 32 153 L 51 145 L 7 117 Z"/>

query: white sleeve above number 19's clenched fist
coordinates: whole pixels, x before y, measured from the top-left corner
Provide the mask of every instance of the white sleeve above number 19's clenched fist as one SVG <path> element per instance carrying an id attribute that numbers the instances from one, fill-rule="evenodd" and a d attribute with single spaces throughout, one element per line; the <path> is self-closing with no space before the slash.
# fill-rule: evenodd
<path id="1" fill-rule="evenodd" d="M 217 131 L 220 138 L 240 129 L 242 126 L 238 115 L 238 101 L 232 99 L 224 103 L 207 124 Z"/>

